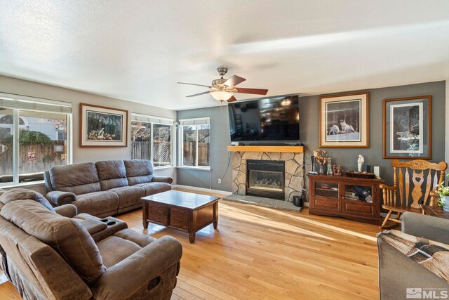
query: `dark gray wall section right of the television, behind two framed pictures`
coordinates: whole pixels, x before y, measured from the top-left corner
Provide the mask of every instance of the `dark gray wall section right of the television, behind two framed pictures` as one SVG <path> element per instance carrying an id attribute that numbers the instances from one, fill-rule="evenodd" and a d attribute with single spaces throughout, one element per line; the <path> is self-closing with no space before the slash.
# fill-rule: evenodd
<path id="1" fill-rule="evenodd" d="M 365 165 L 380 167 L 380 176 L 389 185 L 393 184 L 391 159 L 383 156 L 382 100 L 412 96 L 432 96 L 432 159 L 433 162 L 444 161 L 445 154 L 445 81 L 425 84 L 410 84 L 381 89 L 368 89 L 370 92 L 370 148 L 323 148 L 332 157 L 333 164 L 341 164 L 344 170 L 357 169 L 358 155 L 365 158 Z M 352 93 L 353 91 L 351 91 Z M 347 93 L 347 92 L 346 92 Z M 300 135 L 304 145 L 313 151 L 319 148 L 319 97 L 300 98 L 301 128 Z M 306 162 L 310 162 L 307 152 Z M 309 171 L 307 166 L 306 171 Z M 306 182 L 307 183 L 307 182 Z M 308 190 L 308 183 L 306 185 Z"/>

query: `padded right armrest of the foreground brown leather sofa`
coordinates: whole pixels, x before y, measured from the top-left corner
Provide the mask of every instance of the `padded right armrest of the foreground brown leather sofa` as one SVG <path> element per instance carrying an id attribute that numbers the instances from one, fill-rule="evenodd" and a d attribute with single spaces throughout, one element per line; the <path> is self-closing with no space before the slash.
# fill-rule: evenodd
<path id="1" fill-rule="evenodd" d="M 91 287 L 93 299 L 128 299 L 147 289 L 149 282 L 165 270 L 176 266 L 181 256 L 180 242 L 173 237 L 161 237 L 108 268 Z"/>

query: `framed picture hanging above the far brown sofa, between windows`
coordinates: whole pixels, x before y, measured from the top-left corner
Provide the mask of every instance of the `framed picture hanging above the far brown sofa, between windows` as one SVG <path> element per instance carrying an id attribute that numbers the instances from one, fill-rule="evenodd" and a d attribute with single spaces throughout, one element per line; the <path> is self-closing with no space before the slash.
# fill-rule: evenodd
<path id="1" fill-rule="evenodd" d="M 80 147 L 126 147 L 128 110 L 80 103 Z"/>

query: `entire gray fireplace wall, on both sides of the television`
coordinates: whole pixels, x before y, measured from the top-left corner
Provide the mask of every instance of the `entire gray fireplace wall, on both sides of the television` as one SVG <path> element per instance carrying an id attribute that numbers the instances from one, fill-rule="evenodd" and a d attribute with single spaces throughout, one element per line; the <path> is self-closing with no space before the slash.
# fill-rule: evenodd
<path id="1" fill-rule="evenodd" d="M 403 98 L 411 96 L 432 96 L 432 161 L 441 162 L 445 159 L 445 81 L 424 84 L 410 84 L 380 89 L 367 89 L 370 92 L 370 148 L 323 148 L 333 158 L 333 164 L 341 164 L 344 170 L 356 169 L 357 158 L 361 154 L 365 157 L 365 164 L 380 167 L 380 176 L 387 184 L 392 184 L 391 159 L 382 158 L 382 100 L 389 98 Z M 347 91 L 344 93 L 355 92 Z M 333 93 L 334 94 L 334 93 Z M 335 93 L 337 94 L 337 93 Z M 319 148 L 319 97 L 300 97 L 300 136 L 304 145 L 311 151 Z M 231 191 L 231 173 L 229 169 L 222 184 L 217 178 L 225 173 L 228 165 L 227 146 L 231 144 L 229 138 L 229 119 L 227 107 L 209 107 L 198 110 L 183 110 L 177 113 L 179 119 L 192 117 L 210 117 L 211 168 L 212 171 L 178 170 L 177 183 L 201 188 Z M 306 164 L 310 162 L 311 152 L 307 151 Z M 310 166 L 306 166 L 309 171 Z M 231 167 L 229 167 L 231 168 Z M 210 184 L 211 182 L 211 184 Z M 304 187 L 308 189 L 307 181 Z"/>

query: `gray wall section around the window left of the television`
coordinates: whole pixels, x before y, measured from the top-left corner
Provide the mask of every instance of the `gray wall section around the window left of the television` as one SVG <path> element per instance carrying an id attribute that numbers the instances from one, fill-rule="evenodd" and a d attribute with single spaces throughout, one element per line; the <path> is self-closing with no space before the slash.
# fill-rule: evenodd
<path id="1" fill-rule="evenodd" d="M 199 188 L 212 188 L 214 190 L 231 190 L 232 166 L 227 169 L 229 152 L 227 146 L 231 145 L 229 136 L 229 117 L 227 105 L 220 107 L 206 107 L 197 110 L 180 110 L 178 119 L 197 117 L 210 117 L 210 171 L 196 169 L 177 169 L 177 184 L 191 185 Z M 218 178 L 222 176 L 222 183 Z"/>

